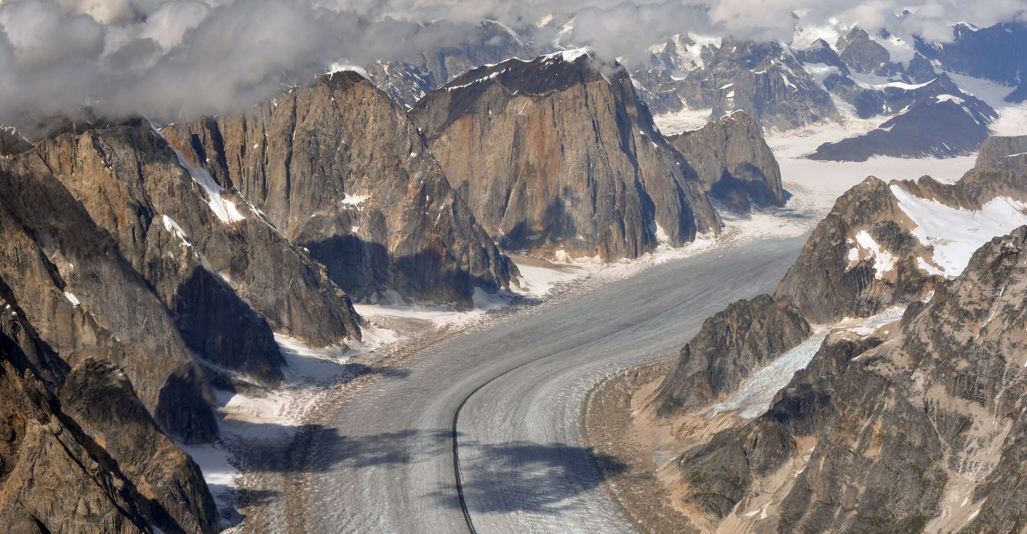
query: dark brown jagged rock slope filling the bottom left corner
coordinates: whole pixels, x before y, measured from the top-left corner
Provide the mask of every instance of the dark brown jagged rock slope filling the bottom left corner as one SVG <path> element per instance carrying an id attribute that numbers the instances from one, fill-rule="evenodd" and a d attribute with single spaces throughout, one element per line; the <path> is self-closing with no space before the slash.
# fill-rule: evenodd
<path id="1" fill-rule="evenodd" d="M 157 428 L 127 377 L 88 355 L 69 370 L 0 292 L 6 531 L 218 532 L 199 469 Z"/>

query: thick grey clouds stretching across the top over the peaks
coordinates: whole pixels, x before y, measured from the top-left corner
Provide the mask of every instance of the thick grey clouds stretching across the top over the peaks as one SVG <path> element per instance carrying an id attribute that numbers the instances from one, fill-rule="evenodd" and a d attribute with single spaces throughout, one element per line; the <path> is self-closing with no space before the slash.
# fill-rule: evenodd
<path id="1" fill-rule="evenodd" d="M 808 4 L 813 4 L 808 9 Z M 945 41 L 950 25 L 1010 21 L 1027 0 L 0 0 L 0 124 L 81 105 L 194 116 L 237 109 L 337 62 L 403 60 L 473 38 L 495 18 L 515 28 L 576 12 L 572 40 L 644 59 L 681 32 L 790 41 L 808 26 L 886 26 Z M 912 14 L 898 18 L 902 8 Z M 423 25 L 435 21 L 431 25 Z M 543 37 L 543 35 L 539 35 Z M 293 78 L 300 79 L 293 79 Z"/>

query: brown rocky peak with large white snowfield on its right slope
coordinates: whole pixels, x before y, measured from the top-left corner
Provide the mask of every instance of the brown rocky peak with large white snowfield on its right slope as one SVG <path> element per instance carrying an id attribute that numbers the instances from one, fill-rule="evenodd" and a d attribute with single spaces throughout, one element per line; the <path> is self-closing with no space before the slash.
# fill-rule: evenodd
<path id="1" fill-rule="evenodd" d="M 1024 201 L 1022 175 L 1005 169 L 975 168 L 955 184 L 870 177 L 813 229 L 775 296 L 820 323 L 920 300 L 962 272 L 971 251 L 1027 223 Z"/>

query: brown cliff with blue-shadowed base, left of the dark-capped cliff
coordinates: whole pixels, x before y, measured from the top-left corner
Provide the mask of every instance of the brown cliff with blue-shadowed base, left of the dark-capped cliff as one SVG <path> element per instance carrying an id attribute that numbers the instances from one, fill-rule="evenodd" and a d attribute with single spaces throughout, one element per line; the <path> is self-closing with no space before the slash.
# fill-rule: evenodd
<path id="1" fill-rule="evenodd" d="M 355 298 L 395 290 L 469 305 L 474 288 L 495 293 L 516 272 L 403 108 L 354 72 L 162 132 Z"/>

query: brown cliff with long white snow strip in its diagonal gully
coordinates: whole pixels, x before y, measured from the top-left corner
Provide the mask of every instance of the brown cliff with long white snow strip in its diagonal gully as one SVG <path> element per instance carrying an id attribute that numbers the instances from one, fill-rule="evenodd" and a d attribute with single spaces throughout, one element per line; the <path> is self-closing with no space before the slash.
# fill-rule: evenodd
<path id="1" fill-rule="evenodd" d="M 60 136 L 39 153 L 153 284 L 193 350 L 274 382 L 272 329 L 316 346 L 359 339 L 348 298 L 324 268 L 238 192 L 208 191 L 202 170 L 149 125 Z"/>

